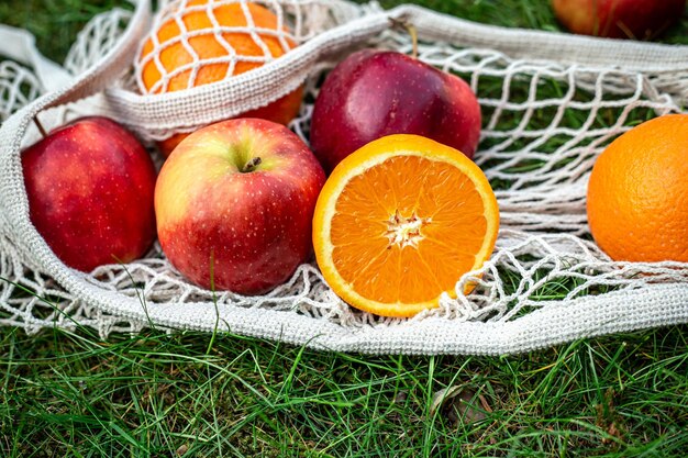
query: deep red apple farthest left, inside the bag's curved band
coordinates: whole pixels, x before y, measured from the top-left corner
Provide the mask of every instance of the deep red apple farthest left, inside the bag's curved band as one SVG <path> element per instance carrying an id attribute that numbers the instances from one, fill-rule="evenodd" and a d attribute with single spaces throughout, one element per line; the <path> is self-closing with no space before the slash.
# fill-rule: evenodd
<path id="1" fill-rule="evenodd" d="M 22 167 L 31 221 L 67 266 L 129 262 L 155 239 L 155 167 L 114 121 L 63 126 L 27 148 Z"/>

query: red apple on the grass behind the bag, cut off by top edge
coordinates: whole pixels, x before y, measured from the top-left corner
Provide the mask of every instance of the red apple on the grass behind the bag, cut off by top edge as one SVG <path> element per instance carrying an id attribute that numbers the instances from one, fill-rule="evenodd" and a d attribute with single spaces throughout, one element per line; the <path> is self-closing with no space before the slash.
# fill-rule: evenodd
<path id="1" fill-rule="evenodd" d="M 552 5 L 574 33 L 650 40 L 683 15 L 686 0 L 552 0 Z"/>

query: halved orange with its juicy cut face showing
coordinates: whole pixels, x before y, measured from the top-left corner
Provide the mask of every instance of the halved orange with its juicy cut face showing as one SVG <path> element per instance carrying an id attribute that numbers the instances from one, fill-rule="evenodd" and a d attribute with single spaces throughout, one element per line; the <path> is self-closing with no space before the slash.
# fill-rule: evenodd
<path id="1" fill-rule="evenodd" d="M 351 305 L 408 317 L 455 298 L 495 249 L 499 209 L 482 170 L 458 150 L 390 135 L 346 157 L 313 216 L 315 258 Z"/>

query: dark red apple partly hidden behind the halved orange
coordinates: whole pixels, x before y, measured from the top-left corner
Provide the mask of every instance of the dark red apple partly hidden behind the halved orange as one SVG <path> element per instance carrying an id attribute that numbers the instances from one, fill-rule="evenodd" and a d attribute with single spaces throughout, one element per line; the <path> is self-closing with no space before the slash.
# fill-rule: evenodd
<path id="1" fill-rule="evenodd" d="M 463 79 L 406 54 L 364 49 L 328 75 L 315 99 L 310 142 L 328 172 L 392 134 L 422 135 L 473 158 L 480 122 L 480 105 Z"/>

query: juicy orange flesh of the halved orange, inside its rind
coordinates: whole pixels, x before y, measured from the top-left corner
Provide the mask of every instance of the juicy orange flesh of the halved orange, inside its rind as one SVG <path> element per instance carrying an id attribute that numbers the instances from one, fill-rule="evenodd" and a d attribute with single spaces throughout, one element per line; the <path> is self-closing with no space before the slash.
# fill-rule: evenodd
<path id="1" fill-rule="evenodd" d="M 401 224 L 390 223 L 396 214 Z M 412 225 L 406 239 L 393 231 L 404 222 Z M 396 156 L 348 181 L 330 237 L 334 266 L 358 294 L 421 303 L 452 291 L 471 270 L 486 233 L 481 196 L 464 172 L 444 161 Z M 400 238 L 391 239 L 395 234 Z"/>

